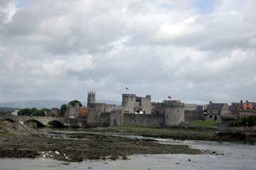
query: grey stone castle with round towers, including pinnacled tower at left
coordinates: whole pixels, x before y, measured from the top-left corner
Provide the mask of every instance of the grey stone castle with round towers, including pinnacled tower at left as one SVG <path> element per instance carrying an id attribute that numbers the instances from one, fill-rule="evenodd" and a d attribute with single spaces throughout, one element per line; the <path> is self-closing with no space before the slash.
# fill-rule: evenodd
<path id="1" fill-rule="evenodd" d="M 97 103 L 95 92 L 87 94 L 87 125 L 136 125 L 149 127 L 177 126 L 184 122 L 184 103 L 151 102 L 151 96 L 122 94 L 122 105 Z"/>

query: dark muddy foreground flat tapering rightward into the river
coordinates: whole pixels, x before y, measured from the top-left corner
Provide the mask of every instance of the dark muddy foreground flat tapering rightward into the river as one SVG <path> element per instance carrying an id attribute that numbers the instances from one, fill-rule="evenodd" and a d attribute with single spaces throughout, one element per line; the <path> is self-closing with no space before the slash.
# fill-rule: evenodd
<path id="1" fill-rule="evenodd" d="M 186 145 L 161 145 L 146 140 L 84 134 L 79 140 L 1 135 L 1 158 L 46 157 L 67 162 L 85 159 L 127 159 L 132 154 L 201 154 Z"/>

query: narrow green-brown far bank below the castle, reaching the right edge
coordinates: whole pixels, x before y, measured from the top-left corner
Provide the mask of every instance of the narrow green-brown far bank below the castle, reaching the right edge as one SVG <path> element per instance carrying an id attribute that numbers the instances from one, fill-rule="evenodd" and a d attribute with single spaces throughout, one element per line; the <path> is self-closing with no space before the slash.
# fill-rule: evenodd
<path id="1" fill-rule="evenodd" d="M 171 138 L 174 140 L 205 140 L 215 142 L 239 142 L 255 145 L 256 130 L 252 134 L 240 131 L 215 130 L 213 128 L 146 128 L 146 127 L 97 127 L 84 128 L 85 132 L 116 132 L 120 135 L 140 135 L 142 137 Z"/>

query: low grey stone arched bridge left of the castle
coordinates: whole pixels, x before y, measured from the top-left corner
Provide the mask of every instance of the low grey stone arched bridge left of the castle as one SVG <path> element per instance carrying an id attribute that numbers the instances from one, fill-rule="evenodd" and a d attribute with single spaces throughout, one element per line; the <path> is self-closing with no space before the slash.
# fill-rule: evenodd
<path id="1" fill-rule="evenodd" d="M 27 115 L 0 115 L 0 120 L 9 120 L 11 122 L 26 124 L 28 122 L 36 123 L 39 127 L 44 125 L 63 126 L 81 126 L 79 120 L 65 117 L 48 117 L 48 116 L 27 116 Z"/>

